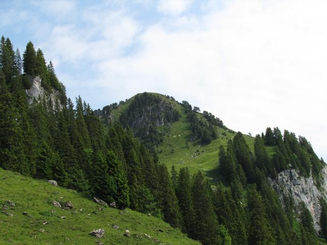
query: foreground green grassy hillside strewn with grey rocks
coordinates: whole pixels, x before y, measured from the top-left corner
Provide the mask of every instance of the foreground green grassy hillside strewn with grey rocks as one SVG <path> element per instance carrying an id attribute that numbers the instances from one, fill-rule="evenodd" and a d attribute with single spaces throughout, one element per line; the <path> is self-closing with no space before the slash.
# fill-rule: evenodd
<path id="1" fill-rule="evenodd" d="M 73 190 L 2 168 L 0 190 L 0 206 L 9 214 L 0 213 L 0 244 L 199 244 L 159 218 L 103 207 Z M 7 204 L 9 200 L 15 207 Z M 74 208 L 55 207 L 55 200 L 70 201 Z M 114 229 L 113 225 L 120 228 Z M 89 234 L 99 228 L 105 230 L 103 237 Z M 130 231 L 130 237 L 123 235 L 125 230 Z"/>

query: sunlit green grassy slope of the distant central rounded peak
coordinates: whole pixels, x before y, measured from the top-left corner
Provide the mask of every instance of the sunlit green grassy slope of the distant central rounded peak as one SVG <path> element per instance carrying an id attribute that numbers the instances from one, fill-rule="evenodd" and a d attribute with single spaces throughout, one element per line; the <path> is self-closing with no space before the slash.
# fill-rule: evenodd
<path id="1" fill-rule="evenodd" d="M 165 163 L 168 169 L 171 169 L 172 165 L 175 166 L 176 170 L 187 166 L 192 174 L 196 173 L 198 170 L 204 171 L 207 176 L 211 178 L 212 183 L 215 184 L 218 180 L 215 169 L 219 161 L 219 146 L 227 145 L 228 139 L 232 139 L 235 136 L 235 132 L 215 126 L 218 138 L 211 143 L 202 144 L 200 140 L 192 141 L 190 122 L 186 118 L 182 105 L 168 99 L 165 95 L 159 93 L 151 94 L 159 96 L 162 100 L 173 103 L 174 108 L 176 108 L 181 115 L 179 120 L 173 122 L 169 127 L 159 127 L 159 130 L 164 133 L 164 141 L 157 147 L 160 162 Z M 111 113 L 114 120 L 119 120 L 120 115 L 132 103 L 135 96 L 131 97 L 123 105 L 112 110 Z M 201 113 L 197 114 L 198 117 L 205 120 Z M 254 137 L 248 135 L 244 135 L 244 137 L 251 150 L 253 150 Z M 273 148 L 268 149 L 268 152 L 273 154 Z"/>

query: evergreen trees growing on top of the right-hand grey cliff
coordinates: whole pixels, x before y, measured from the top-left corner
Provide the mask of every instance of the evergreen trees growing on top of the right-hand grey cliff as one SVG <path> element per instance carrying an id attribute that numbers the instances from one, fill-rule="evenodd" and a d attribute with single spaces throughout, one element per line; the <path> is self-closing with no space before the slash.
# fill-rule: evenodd
<path id="1" fill-rule="evenodd" d="M 312 174 L 315 184 L 319 187 L 322 182 L 321 170 L 324 166 L 323 159 L 319 159 L 312 149 L 312 145 L 305 137 L 298 138 L 294 133 L 285 130 L 284 135 L 278 128 L 266 129 L 262 133 L 262 140 L 265 145 L 272 146 L 275 154 L 272 157 L 272 164 L 275 169 L 269 173 L 272 177 L 282 170 L 290 167 L 299 170 L 303 177 L 309 177 Z"/>

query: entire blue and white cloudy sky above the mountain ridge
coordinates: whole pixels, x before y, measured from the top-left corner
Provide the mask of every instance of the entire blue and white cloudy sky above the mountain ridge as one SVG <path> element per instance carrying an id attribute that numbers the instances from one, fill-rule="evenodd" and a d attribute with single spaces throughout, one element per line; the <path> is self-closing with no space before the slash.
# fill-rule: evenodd
<path id="1" fill-rule="evenodd" d="M 102 108 L 169 94 L 245 134 L 305 136 L 327 160 L 327 1 L 0 0 L 0 34 Z"/>

